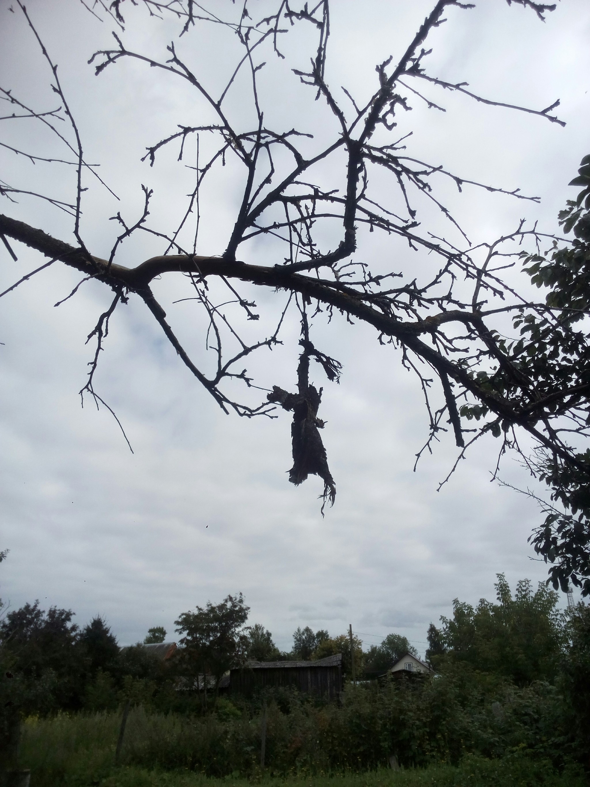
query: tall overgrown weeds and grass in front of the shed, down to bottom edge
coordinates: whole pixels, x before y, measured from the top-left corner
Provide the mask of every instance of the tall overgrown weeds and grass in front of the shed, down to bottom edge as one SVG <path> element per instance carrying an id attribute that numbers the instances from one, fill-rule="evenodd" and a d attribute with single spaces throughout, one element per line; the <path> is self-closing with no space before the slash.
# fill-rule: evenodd
<path id="1" fill-rule="evenodd" d="M 132 708 L 121 767 L 120 713 L 61 714 L 24 724 L 20 763 L 34 787 L 582 787 L 581 770 L 545 733 L 547 687 L 503 695 L 478 714 L 453 699 L 461 686 L 348 691 L 341 708 L 297 696 L 267 703 L 267 767 L 260 770 L 260 715 L 235 708 L 206 717 Z M 491 696 L 502 696 L 498 687 Z M 287 701 L 289 700 L 289 701 Z M 544 704 L 540 704 L 541 700 Z M 500 708 L 500 711 L 498 711 Z M 541 712 L 542 711 L 542 712 Z M 555 720 L 554 720 L 555 721 Z M 562 745 L 562 741 L 558 741 Z M 552 748 L 553 747 L 553 748 Z M 402 770 L 385 766 L 395 754 Z M 484 756 L 485 755 L 485 756 Z"/>

